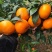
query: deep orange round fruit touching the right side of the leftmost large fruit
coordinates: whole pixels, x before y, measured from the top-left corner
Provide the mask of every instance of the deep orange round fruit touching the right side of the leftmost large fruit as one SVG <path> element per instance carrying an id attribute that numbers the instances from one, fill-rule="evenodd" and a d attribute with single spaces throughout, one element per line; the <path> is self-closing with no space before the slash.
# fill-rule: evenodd
<path id="1" fill-rule="evenodd" d="M 26 20 L 22 19 L 21 21 L 17 21 L 15 23 L 16 32 L 19 34 L 25 33 L 29 28 L 29 24 Z"/>

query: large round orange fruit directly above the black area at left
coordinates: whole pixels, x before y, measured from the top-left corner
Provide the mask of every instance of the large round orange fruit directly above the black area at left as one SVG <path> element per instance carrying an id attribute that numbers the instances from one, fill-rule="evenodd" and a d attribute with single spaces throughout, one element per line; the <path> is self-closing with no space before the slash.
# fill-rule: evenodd
<path id="1" fill-rule="evenodd" d="M 14 24 L 8 20 L 1 21 L 0 24 L 1 24 L 1 32 L 5 35 L 10 35 L 15 31 Z"/>

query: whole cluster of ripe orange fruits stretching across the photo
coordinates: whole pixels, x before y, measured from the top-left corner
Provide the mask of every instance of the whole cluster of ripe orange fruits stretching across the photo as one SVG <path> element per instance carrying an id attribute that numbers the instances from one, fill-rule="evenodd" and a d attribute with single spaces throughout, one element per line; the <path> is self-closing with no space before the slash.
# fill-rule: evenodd
<path id="1" fill-rule="evenodd" d="M 30 27 L 35 28 L 41 24 L 41 19 L 44 19 L 41 29 L 52 28 L 52 18 L 49 18 L 51 13 L 50 4 L 43 4 L 38 10 L 39 18 L 36 23 L 33 22 L 32 16 L 29 15 L 27 8 L 21 7 L 16 10 L 16 16 L 20 16 L 21 20 L 16 21 L 13 24 L 9 20 L 4 20 L 0 22 L 0 33 L 5 35 L 10 35 L 15 31 L 18 34 L 25 33 Z M 35 18 L 35 17 L 34 17 Z"/>

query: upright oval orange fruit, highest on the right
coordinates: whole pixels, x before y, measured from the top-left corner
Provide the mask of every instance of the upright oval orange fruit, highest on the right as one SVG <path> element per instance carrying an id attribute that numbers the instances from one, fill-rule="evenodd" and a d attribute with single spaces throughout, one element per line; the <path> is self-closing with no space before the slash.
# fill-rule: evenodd
<path id="1" fill-rule="evenodd" d="M 43 4 L 42 6 L 40 6 L 39 8 L 39 16 L 42 19 L 46 19 L 49 17 L 51 13 L 51 6 L 49 4 Z"/>

